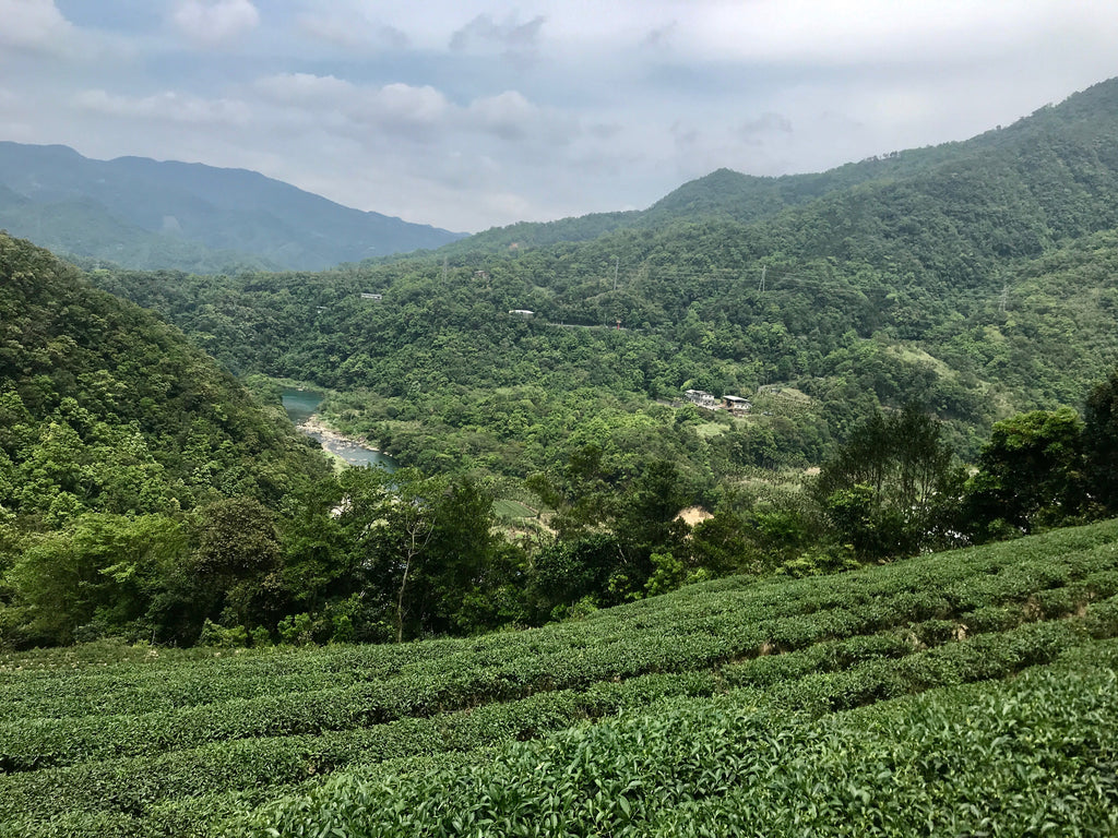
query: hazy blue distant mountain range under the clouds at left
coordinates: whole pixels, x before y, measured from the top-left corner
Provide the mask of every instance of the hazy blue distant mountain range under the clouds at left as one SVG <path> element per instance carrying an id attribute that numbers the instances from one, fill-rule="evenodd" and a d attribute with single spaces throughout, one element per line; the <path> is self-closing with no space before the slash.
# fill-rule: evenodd
<path id="1" fill-rule="evenodd" d="M 0 228 L 60 254 L 191 272 L 319 270 L 464 236 L 244 169 L 11 142 L 0 142 Z"/>

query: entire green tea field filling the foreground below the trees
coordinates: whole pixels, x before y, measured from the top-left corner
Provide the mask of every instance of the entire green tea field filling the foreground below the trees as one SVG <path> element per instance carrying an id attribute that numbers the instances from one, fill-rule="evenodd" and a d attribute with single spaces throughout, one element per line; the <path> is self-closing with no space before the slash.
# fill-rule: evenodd
<path id="1" fill-rule="evenodd" d="M 2 836 L 1118 834 L 1118 522 L 396 646 L 0 658 Z"/>

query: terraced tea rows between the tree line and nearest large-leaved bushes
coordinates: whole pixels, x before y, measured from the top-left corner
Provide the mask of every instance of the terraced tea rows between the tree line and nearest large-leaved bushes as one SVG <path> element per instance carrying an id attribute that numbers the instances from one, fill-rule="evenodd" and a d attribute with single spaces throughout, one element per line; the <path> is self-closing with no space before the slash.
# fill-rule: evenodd
<path id="1" fill-rule="evenodd" d="M 440 771 L 665 702 L 826 715 L 1118 636 L 1116 596 L 1109 522 L 841 577 L 721 580 L 477 639 L 8 656 L 0 823 L 209 835 L 324 774 Z"/>

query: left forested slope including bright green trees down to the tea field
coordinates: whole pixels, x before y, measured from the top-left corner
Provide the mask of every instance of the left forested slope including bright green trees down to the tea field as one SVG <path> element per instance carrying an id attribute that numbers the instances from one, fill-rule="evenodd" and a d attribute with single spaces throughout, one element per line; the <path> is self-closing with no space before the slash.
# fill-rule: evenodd
<path id="1" fill-rule="evenodd" d="M 240 527 L 247 541 L 254 515 L 325 473 L 285 417 L 177 330 L 6 235 L 0 330 L 4 642 L 142 622 L 186 569 L 191 533 Z M 252 552 L 225 549 L 233 565 Z"/>

